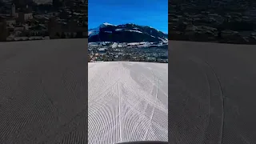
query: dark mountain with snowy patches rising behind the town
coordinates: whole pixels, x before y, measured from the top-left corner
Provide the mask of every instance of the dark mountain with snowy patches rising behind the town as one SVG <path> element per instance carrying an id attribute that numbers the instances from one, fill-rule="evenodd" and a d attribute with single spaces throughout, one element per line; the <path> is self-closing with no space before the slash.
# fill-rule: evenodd
<path id="1" fill-rule="evenodd" d="M 116 26 L 105 22 L 89 29 L 88 37 L 89 42 L 168 42 L 168 34 L 133 23 Z"/>

